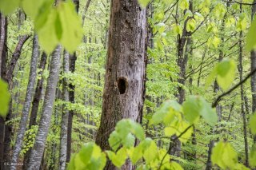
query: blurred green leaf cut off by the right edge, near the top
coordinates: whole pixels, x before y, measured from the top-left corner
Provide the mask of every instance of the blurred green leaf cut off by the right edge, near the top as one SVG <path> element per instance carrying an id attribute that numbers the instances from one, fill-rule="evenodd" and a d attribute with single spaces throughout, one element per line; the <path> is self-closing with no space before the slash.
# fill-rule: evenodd
<path id="1" fill-rule="evenodd" d="M 254 49 L 256 45 L 255 37 L 256 37 L 256 18 L 254 17 L 254 21 L 252 22 L 248 34 L 246 35 L 246 50 L 251 51 Z"/>

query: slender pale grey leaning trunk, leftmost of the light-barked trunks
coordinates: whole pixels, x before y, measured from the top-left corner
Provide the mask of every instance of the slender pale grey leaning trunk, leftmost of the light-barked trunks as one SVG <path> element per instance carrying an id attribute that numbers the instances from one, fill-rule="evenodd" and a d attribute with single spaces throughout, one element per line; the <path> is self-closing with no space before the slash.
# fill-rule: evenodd
<path id="1" fill-rule="evenodd" d="M 37 77 L 38 49 L 39 49 L 38 36 L 34 34 L 32 58 L 31 58 L 31 64 L 30 64 L 30 77 L 29 77 L 29 82 L 26 89 L 26 98 L 23 105 L 22 118 L 19 124 L 18 135 L 17 135 L 15 146 L 14 146 L 12 160 L 11 160 L 11 163 L 14 164 L 14 166 L 10 166 L 10 169 L 13 169 L 13 170 L 16 169 L 16 164 L 18 163 L 18 156 L 22 150 L 23 137 L 26 132 L 26 122 L 29 119 L 30 104 L 31 104 L 32 95 L 34 92 L 34 83 Z"/>

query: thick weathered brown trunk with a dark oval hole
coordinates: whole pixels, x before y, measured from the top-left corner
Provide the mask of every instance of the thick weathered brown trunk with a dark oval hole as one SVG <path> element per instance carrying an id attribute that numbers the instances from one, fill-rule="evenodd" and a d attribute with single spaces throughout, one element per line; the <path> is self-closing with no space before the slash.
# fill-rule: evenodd
<path id="1" fill-rule="evenodd" d="M 110 149 L 108 137 L 117 121 L 141 121 L 146 77 L 146 9 L 137 0 L 112 0 L 103 92 L 96 143 Z M 126 164 L 123 169 L 131 169 Z M 114 169 L 109 162 L 106 169 Z"/>

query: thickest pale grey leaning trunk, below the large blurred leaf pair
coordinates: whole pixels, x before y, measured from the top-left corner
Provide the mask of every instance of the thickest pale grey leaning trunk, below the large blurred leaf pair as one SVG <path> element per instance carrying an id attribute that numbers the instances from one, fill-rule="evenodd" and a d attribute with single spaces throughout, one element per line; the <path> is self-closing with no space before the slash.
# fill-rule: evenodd
<path id="1" fill-rule="evenodd" d="M 55 91 L 58 82 L 61 50 L 61 45 L 58 45 L 52 54 L 50 73 L 46 85 L 46 95 L 42 107 L 42 116 L 38 127 L 38 134 L 35 138 L 34 148 L 30 155 L 30 162 L 28 164 L 28 169 L 31 170 L 40 168 L 42 154 L 46 146 L 46 138 L 50 128 L 50 117 L 53 111 Z"/>

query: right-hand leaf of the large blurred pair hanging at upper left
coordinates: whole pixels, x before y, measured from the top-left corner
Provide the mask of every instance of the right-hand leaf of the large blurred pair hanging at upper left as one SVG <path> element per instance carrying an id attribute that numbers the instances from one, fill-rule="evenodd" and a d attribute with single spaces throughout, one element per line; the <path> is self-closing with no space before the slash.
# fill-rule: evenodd
<path id="1" fill-rule="evenodd" d="M 74 9 L 74 3 L 71 1 L 60 3 L 58 14 L 62 23 L 62 38 L 60 42 L 68 52 L 73 53 L 82 42 L 83 30 L 81 19 L 78 18 L 78 14 Z"/>

